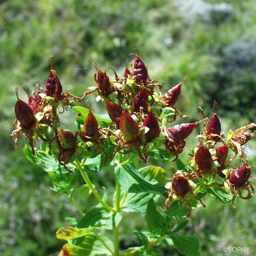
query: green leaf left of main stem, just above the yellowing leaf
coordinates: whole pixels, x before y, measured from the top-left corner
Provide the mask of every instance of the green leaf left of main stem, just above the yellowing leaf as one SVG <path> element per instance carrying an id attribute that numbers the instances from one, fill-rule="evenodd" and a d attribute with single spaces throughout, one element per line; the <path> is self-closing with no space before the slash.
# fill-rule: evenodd
<path id="1" fill-rule="evenodd" d="M 118 212 L 113 214 L 103 207 L 94 207 L 89 210 L 78 222 L 78 228 L 100 227 L 103 229 L 114 229 L 121 221 L 122 216 Z"/>

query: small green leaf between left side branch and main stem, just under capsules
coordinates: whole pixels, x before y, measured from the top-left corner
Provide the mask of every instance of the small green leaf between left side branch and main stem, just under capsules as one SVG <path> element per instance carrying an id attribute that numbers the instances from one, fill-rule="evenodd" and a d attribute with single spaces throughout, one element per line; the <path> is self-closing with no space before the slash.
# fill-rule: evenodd
<path id="1" fill-rule="evenodd" d="M 104 150 L 106 153 L 106 159 L 103 152 L 101 152 L 94 158 L 87 158 L 82 165 L 82 169 L 88 174 L 95 174 L 98 173 L 102 168 L 111 165 L 114 161 L 113 153 L 115 146 L 113 144 L 109 144 L 106 148 L 104 148 Z"/>

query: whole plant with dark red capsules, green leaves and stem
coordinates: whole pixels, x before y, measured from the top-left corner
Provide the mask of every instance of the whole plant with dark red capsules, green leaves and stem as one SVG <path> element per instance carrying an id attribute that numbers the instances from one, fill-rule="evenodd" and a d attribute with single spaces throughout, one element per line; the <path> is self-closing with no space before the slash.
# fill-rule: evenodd
<path id="1" fill-rule="evenodd" d="M 72 226 L 57 231 L 57 238 L 67 240 L 59 255 L 156 255 L 156 247 L 163 241 L 167 247 L 176 246 L 181 254 L 200 254 L 198 238 L 177 231 L 185 227 L 183 219 L 193 208 L 206 207 L 202 200 L 206 195 L 223 203 L 234 202 L 237 196 L 252 197 L 253 166 L 248 163 L 245 145 L 254 137 L 256 124 L 230 130 L 226 135 L 221 131 L 215 101 L 209 118 L 200 108 L 203 120 L 173 124 L 177 117 L 185 118 L 176 108 L 184 79 L 162 93 L 162 85 L 150 78 L 137 51 L 123 76 L 112 69 L 115 77 L 111 78 L 106 70 L 101 71 L 96 63 L 94 66 L 96 86 L 80 96 L 65 92 L 53 69 L 53 58 L 46 86 L 37 86 L 32 94 L 24 88 L 27 102 L 15 89 L 15 148 L 24 134 L 30 145 L 24 148 L 28 160 L 49 174 L 52 189 L 68 195 L 81 215 L 72 219 Z M 78 105 L 92 93 L 105 114 Z M 75 131 L 61 123 L 61 114 L 67 110 L 77 112 Z M 196 136 L 200 123 L 202 131 Z M 195 148 L 185 164 L 179 157 L 184 154 L 188 136 L 195 138 Z M 161 164 L 176 162 L 176 168 L 170 166 L 173 173 L 169 176 L 163 167 L 147 165 L 150 159 L 161 160 Z M 107 197 L 110 191 L 105 189 L 101 196 L 89 176 L 102 169 L 111 172 L 111 168 L 115 173 L 115 194 Z M 85 185 L 78 183 L 79 174 Z M 170 181 L 166 183 L 167 179 Z M 97 205 L 85 208 L 76 202 L 78 195 L 88 197 L 91 193 Z M 141 244 L 121 250 L 122 214 L 134 211 L 145 214 L 148 231 L 135 231 Z M 106 230 L 114 231 L 113 242 Z"/>

